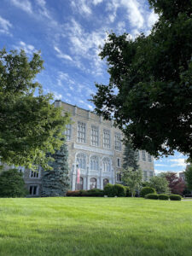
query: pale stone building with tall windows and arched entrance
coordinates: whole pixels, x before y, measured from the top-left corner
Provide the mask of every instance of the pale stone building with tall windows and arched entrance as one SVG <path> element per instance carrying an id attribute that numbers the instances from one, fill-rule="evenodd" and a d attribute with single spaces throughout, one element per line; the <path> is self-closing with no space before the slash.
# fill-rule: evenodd
<path id="1" fill-rule="evenodd" d="M 55 107 L 62 107 L 63 112 L 71 113 L 72 124 L 67 125 L 65 131 L 71 189 L 103 189 L 107 183 L 120 183 L 123 135 L 113 126 L 113 121 L 103 120 L 96 113 L 66 102 L 55 101 Z M 143 170 L 143 180 L 154 176 L 154 160 L 150 154 L 138 151 L 138 163 Z M 29 194 L 41 195 L 42 170 L 24 173 Z"/>

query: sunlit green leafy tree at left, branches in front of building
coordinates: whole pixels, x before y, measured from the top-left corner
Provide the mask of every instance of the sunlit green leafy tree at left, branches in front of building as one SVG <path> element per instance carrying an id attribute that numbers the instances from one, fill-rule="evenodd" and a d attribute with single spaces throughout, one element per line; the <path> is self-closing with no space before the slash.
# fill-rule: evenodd
<path id="1" fill-rule="evenodd" d="M 61 147 L 69 118 L 35 81 L 42 69 L 40 53 L 29 61 L 24 50 L 0 50 L 0 158 L 9 165 L 49 168 L 46 153 Z"/>

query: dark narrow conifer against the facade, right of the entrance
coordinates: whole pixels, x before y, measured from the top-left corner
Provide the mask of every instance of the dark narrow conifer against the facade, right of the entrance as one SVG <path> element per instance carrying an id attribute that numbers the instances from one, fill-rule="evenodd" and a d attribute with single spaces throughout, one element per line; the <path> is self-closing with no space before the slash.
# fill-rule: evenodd
<path id="1" fill-rule="evenodd" d="M 132 167 L 134 171 L 138 169 L 137 152 L 132 148 L 131 142 L 125 144 L 123 168 Z"/>

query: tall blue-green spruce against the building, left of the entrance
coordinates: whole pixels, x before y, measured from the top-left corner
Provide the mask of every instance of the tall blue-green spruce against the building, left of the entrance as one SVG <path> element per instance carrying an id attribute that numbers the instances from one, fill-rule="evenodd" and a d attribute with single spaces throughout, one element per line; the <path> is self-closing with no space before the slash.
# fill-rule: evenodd
<path id="1" fill-rule="evenodd" d="M 65 196 L 69 187 L 66 143 L 63 143 L 52 157 L 55 159 L 50 163 L 53 170 L 44 172 L 42 178 L 42 196 Z"/>

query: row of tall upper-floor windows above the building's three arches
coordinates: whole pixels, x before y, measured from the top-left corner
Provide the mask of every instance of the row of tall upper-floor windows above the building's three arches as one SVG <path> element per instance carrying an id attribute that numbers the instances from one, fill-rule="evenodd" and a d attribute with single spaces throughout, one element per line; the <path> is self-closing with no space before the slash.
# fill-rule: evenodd
<path id="1" fill-rule="evenodd" d="M 86 124 L 79 121 L 78 122 L 78 134 L 77 134 L 77 141 L 78 143 L 86 143 Z M 72 139 L 72 125 L 67 125 L 65 136 L 68 141 Z M 90 144 L 92 146 L 98 147 L 100 144 L 100 137 L 99 137 L 99 127 L 96 125 L 91 125 L 90 131 Z M 103 137 L 102 137 L 103 148 L 111 148 L 111 134 L 110 131 L 107 129 L 103 129 Z M 121 150 L 121 136 L 119 133 L 115 133 L 114 136 L 114 148 L 116 150 Z"/>

